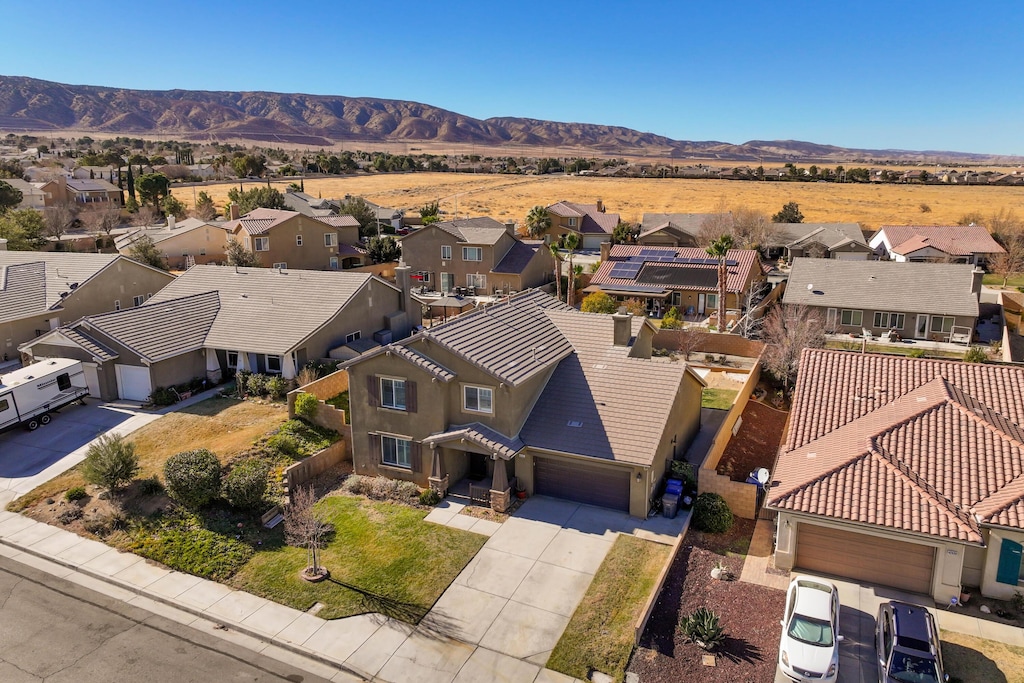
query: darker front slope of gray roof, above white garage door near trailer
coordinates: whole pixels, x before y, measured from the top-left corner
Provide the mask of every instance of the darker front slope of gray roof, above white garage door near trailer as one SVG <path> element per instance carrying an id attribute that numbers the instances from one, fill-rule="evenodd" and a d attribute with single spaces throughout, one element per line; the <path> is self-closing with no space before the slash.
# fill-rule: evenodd
<path id="1" fill-rule="evenodd" d="M 73 334 L 78 331 L 92 336 L 98 331 L 157 362 L 203 348 L 219 311 L 218 294 L 206 292 L 89 315 L 69 327 Z"/>

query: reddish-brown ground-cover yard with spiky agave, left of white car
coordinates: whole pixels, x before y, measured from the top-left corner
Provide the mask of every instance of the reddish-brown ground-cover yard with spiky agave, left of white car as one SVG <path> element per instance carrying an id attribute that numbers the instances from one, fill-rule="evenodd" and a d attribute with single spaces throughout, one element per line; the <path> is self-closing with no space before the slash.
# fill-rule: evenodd
<path id="1" fill-rule="evenodd" d="M 640 646 L 628 671 L 643 683 L 771 683 L 781 633 L 778 625 L 785 602 L 782 591 L 741 583 L 716 581 L 711 570 L 723 562 L 739 575 L 753 520 L 737 520 L 727 533 L 702 535 L 690 530 L 666 580 Z M 708 607 L 720 617 L 726 641 L 714 654 L 715 667 L 701 664 L 707 654 L 686 642 L 679 620 Z"/>

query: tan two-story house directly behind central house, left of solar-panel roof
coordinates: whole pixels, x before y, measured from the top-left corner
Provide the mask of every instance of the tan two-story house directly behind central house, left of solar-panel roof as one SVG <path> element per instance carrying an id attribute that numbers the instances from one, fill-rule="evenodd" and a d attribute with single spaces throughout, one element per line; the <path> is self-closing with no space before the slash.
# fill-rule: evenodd
<path id="1" fill-rule="evenodd" d="M 553 278 L 551 252 L 540 242 L 524 242 L 515 224 L 494 218 L 464 218 L 425 225 L 401 239 L 402 260 L 417 283 L 451 292 L 519 292 Z"/>

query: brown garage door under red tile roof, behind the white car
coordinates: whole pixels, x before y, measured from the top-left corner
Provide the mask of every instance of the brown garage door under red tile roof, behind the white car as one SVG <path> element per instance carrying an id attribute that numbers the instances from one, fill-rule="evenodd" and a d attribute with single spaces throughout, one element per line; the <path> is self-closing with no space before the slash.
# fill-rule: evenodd
<path id="1" fill-rule="evenodd" d="M 935 549 L 930 546 L 800 524 L 800 569 L 928 595 L 934 566 Z"/>

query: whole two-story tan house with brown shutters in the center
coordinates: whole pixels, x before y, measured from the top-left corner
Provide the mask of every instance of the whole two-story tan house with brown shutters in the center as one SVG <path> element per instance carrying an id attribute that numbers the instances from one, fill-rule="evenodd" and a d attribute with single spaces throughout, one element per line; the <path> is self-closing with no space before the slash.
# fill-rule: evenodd
<path id="1" fill-rule="evenodd" d="M 342 367 L 354 470 L 442 495 L 467 480 L 498 510 L 518 487 L 646 517 L 705 385 L 652 357 L 653 334 L 528 290 L 364 353 Z"/>

